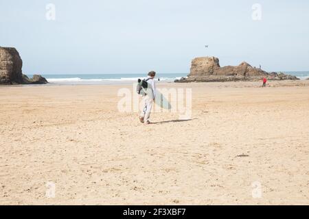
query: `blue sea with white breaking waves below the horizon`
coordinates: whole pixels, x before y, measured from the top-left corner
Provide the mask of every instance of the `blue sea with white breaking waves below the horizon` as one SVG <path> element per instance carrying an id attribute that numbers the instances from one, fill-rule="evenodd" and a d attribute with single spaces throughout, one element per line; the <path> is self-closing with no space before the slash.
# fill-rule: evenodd
<path id="1" fill-rule="evenodd" d="M 301 80 L 309 77 L 309 71 L 283 72 L 288 75 L 295 75 Z M 138 79 L 144 79 L 145 74 L 41 74 L 54 84 L 76 85 L 76 84 L 121 84 L 133 83 Z M 188 73 L 159 73 L 156 75 L 158 81 L 173 82 L 175 79 L 187 77 Z M 32 77 L 33 75 L 27 75 Z"/>

